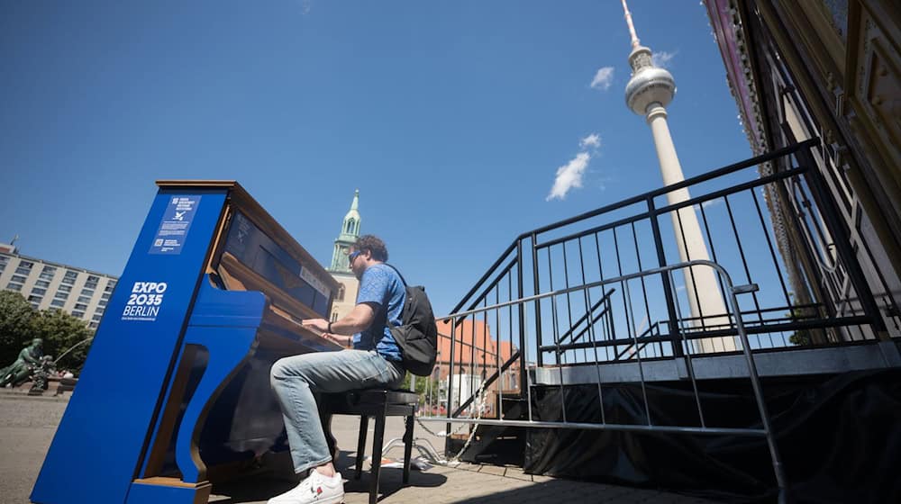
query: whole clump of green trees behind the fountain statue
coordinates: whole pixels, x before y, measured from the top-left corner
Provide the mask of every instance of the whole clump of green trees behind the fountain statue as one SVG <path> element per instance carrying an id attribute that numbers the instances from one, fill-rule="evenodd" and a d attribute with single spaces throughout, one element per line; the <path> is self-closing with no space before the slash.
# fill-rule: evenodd
<path id="1" fill-rule="evenodd" d="M 64 311 L 36 311 L 22 294 L 0 291 L 0 367 L 10 365 L 32 338 L 44 340 L 45 356 L 59 358 L 63 352 L 92 336 L 84 320 Z M 88 343 L 77 347 L 58 363 L 73 373 L 85 365 Z"/>

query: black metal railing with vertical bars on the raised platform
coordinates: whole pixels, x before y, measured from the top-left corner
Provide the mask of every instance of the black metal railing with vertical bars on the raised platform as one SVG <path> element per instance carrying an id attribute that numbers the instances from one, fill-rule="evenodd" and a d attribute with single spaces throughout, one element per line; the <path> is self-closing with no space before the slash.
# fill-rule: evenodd
<path id="1" fill-rule="evenodd" d="M 855 251 L 847 245 L 846 229 L 812 165 L 810 150 L 817 145 L 808 140 L 523 233 L 451 313 L 679 263 L 683 259 L 674 237 L 682 232 L 685 209 L 693 209 L 710 260 L 735 272 L 743 284 L 760 286 L 740 307 L 753 349 L 876 339 L 885 331 L 880 311 L 897 309 L 888 296 L 883 306 L 873 301 Z M 684 188 L 695 197 L 675 204 L 663 201 L 668 193 Z M 782 194 L 785 202 L 776 204 L 774 194 Z M 793 219 L 780 219 L 780 226 L 774 227 L 773 212 L 786 208 L 792 209 Z M 831 246 L 817 245 L 824 243 Z M 585 327 L 577 326 L 595 317 L 605 320 L 600 330 L 606 331 L 608 341 L 628 341 L 633 333 L 651 329 L 654 334 L 641 349 L 644 358 L 681 356 L 687 342 L 705 353 L 732 351 L 732 346 L 722 345 L 735 336 L 724 313 L 689 310 L 689 298 L 697 300 L 699 295 L 685 275 L 692 274 L 642 280 L 633 286 L 641 295 L 630 296 L 623 285 L 615 285 L 614 293 L 588 290 L 578 299 L 560 300 L 559 306 L 534 302 L 531 328 L 523 327 L 523 308 L 500 322 L 519 328 L 511 345 L 531 344 L 542 350 L 535 356 L 538 366 L 595 358 L 588 355 L 590 346 L 584 341 L 557 348 L 558 339 L 569 333 L 584 336 Z M 719 289 L 724 294 L 722 285 Z M 596 313 L 601 307 L 593 305 L 602 299 L 603 313 Z M 630 318 L 633 323 L 622 323 Z M 623 329 L 618 335 L 617 327 Z M 526 341 L 527 332 L 534 342 Z M 699 345 L 697 340 L 711 344 Z M 614 343 L 604 347 L 597 358 L 614 362 L 634 357 L 637 351 L 623 354 L 622 346 L 615 347 Z M 524 362 L 519 366 L 521 381 L 525 367 Z"/>

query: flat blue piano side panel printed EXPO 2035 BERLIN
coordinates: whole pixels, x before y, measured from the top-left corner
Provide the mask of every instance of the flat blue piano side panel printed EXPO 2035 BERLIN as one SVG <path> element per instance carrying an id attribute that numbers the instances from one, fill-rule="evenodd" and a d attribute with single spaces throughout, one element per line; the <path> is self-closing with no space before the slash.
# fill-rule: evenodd
<path id="1" fill-rule="evenodd" d="M 166 389 L 227 189 L 161 189 L 97 329 L 32 491 L 40 504 L 124 502 Z M 178 198 L 202 199 L 178 251 L 154 248 Z M 152 297 L 151 297 L 152 296 Z M 84 461 L 96 461 L 84 464 Z"/>

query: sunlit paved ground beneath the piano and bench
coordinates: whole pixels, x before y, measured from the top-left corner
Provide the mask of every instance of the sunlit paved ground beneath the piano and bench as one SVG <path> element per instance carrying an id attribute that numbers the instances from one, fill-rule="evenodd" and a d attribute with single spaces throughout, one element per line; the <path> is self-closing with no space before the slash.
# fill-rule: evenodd
<path id="1" fill-rule="evenodd" d="M 50 447 L 59 419 L 68 405 L 62 397 L 29 397 L 20 392 L 0 391 L 0 504 L 26 504 Z M 396 420 L 396 421 L 394 421 Z M 371 431 L 373 422 L 369 422 Z M 443 424 L 428 424 L 434 430 Z M 359 419 L 335 417 L 332 432 L 338 439 L 341 455 L 338 468 L 344 476 L 346 504 L 369 502 L 369 463 L 363 466 L 361 479 L 353 479 Z M 388 419 L 386 439 L 401 437 L 401 419 Z M 416 426 L 416 437 L 441 449 L 440 438 Z M 371 449 L 371 432 L 368 451 Z M 401 459 L 403 448 L 392 448 L 387 457 Z M 414 455 L 416 451 L 414 450 Z M 264 504 L 268 498 L 296 484 L 290 477 L 259 473 L 237 482 L 214 486 L 210 502 L 216 504 Z M 379 481 L 380 504 L 429 502 L 545 504 L 554 502 L 702 504 L 711 502 L 676 493 L 634 489 L 595 482 L 578 482 L 525 474 L 518 467 L 460 464 L 456 467 L 433 465 L 424 471 L 411 471 L 410 482 L 402 483 L 402 469 L 383 467 Z M 55 504 L 55 503 L 54 503 Z M 61 504 L 61 503 L 60 503 Z"/>

